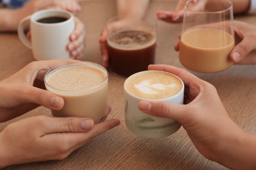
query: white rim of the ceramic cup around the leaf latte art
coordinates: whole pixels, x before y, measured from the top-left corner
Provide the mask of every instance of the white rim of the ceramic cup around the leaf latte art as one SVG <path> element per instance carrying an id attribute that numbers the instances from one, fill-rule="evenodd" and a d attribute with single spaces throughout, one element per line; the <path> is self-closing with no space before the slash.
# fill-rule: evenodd
<path id="1" fill-rule="evenodd" d="M 125 87 L 125 84 L 127 84 L 127 81 L 128 81 L 130 78 L 132 78 L 133 76 L 141 75 L 141 74 L 146 73 L 146 72 L 160 72 L 160 73 L 167 73 L 167 74 L 169 74 L 169 75 L 173 75 L 173 76 L 177 77 L 177 78 L 181 81 L 182 88 L 181 88 L 181 90 L 180 90 L 178 93 L 176 93 L 175 95 L 171 95 L 171 96 L 169 96 L 169 97 L 165 97 L 165 98 L 161 98 L 161 99 L 146 99 L 146 98 L 144 98 L 144 97 L 139 97 L 139 96 L 134 95 L 133 93 L 129 92 L 129 90 L 127 90 L 127 88 Z M 169 72 L 167 72 L 167 71 L 146 70 L 146 71 L 140 71 L 140 72 L 135 73 L 135 74 L 129 76 L 128 78 L 126 78 L 126 80 L 125 80 L 125 82 L 124 82 L 124 84 L 123 84 L 123 88 L 124 88 L 125 92 L 129 93 L 129 95 L 131 95 L 131 96 L 133 96 L 133 97 L 135 97 L 135 98 L 137 98 L 137 99 L 140 99 L 140 100 L 165 101 L 166 99 L 175 98 L 175 97 L 177 97 L 178 95 L 181 95 L 181 93 L 184 93 L 184 82 L 182 81 L 182 79 L 181 79 L 179 76 L 177 76 L 177 75 L 175 75 L 175 74 L 173 74 L 173 73 L 169 73 Z"/>

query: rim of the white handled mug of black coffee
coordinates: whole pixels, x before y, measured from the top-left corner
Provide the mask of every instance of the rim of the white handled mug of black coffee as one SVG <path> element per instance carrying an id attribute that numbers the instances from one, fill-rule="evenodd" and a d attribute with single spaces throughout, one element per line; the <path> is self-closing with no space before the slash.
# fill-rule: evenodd
<path id="1" fill-rule="evenodd" d="M 37 20 L 41 19 L 41 18 L 45 18 L 48 16 L 53 16 L 53 14 L 49 14 L 49 12 L 58 12 L 58 14 L 66 14 L 68 15 L 68 19 L 64 22 L 58 22 L 58 23 L 41 23 L 41 22 L 37 22 Z M 44 16 L 38 16 L 38 15 L 44 15 Z M 33 13 L 30 17 L 30 20 L 32 22 L 35 22 L 36 24 L 39 25 L 60 25 L 60 24 L 65 24 L 66 22 L 69 22 L 70 20 L 72 20 L 74 18 L 73 14 L 67 10 L 62 10 L 62 9 L 44 9 L 44 10 L 39 10 L 35 13 Z"/>

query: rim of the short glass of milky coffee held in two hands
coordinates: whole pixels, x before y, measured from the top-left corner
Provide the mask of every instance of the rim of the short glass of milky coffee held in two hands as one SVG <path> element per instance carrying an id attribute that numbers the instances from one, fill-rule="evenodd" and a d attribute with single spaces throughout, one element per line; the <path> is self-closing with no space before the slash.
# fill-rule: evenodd
<path id="1" fill-rule="evenodd" d="M 85 90 L 74 90 L 74 91 L 73 90 L 72 91 L 60 90 L 58 88 L 54 88 L 47 82 L 48 76 L 52 75 L 56 71 L 59 71 L 61 69 L 65 69 L 65 68 L 70 68 L 70 67 L 77 67 L 77 66 L 87 66 L 87 67 L 91 67 L 91 68 L 99 68 L 99 70 L 102 71 L 102 73 L 104 73 L 106 75 L 106 78 L 102 82 L 100 82 L 100 84 L 97 84 L 96 86 L 93 86 L 92 88 L 87 88 Z M 90 61 L 81 61 L 79 63 L 70 63 L 70 64 L 66 64 L 66 65 L 60 65 L 58 67 L 53 67 L 53 68 L 49 69 L 49 71 L 47 71 L 47 73 L 45 73 L 45 76 L 43 77 L 43 81 L 45 82 L 45 86 L 49 86 L 50 88 L 52 88 L 53 90 L 56 90 L 57 92 L 65 93 L 65 95 L 84 95 L 87 92 L 94 92 L 95 89 L 98 89 L 102 86 L 102 84 L 105 84 L 108 81 L 108 71 L 102 65 L 100 65 L 98 63 L 94 63 L 94 62 L 90 62 Z M 59 93 L 56 93 L 56 94 L 59 94 Z"/>

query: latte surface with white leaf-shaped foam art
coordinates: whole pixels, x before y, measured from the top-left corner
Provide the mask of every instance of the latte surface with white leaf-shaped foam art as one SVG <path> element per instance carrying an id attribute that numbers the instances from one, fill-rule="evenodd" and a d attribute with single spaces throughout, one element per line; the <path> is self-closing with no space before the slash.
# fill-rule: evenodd
<path id="1" fill-rule="evenodd" d="M 146 71 L 127 78 L 125 88 L 129 93 L 143 99 L 164 99 L 179 93 L 181 80 L 164 71 Z"/>

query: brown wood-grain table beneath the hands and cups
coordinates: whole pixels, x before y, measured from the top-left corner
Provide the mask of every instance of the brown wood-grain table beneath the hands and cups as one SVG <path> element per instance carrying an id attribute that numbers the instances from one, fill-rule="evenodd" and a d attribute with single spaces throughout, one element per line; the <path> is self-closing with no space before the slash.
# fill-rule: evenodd
<path id="1" fill-rule="evenodd" d="M 116 14 L 114 0 L 81 1 L 83 10 L 77 14 L 87 32 L 83 60 L 102 63 L 98 37 L 106 20 Z M 175 1 L 152 1 L 146 17 L 156 18 L 157 10 L 173 10 Z M 256 16 L 239 16 L 238 20 L 256 24 Z M 156 63 L 182 67 L 173 46 L 178 41 L 181 24 L 158 21 Z M 30 61 L 32 52 L 18 39 L 16 33 L 0 33 L 0 80 L 12 75 Z M 256 66 L 234 65 L 221 73 L 196 76 L 213 84 L 230 117 L 248 133 L 256 134 Z M 45 161 L 12 165 L 5 169 L 226 169 L 205 159 L 194 147 L 186 131 L 162 139 L 146 139 L 131 133 L 125 126 L 123 112 L 123 82 L 125 78 L 110 73 L 110 118 L 119 118 L 121 125 L 92 139 L 62 161 Z M 49 109 L 39 107 L 23 116 L 0 124 L 0 131 L 10 122 L 34 116 L 50 115 Z M 40 154 L 40 153 L 39 153 Z"/>

